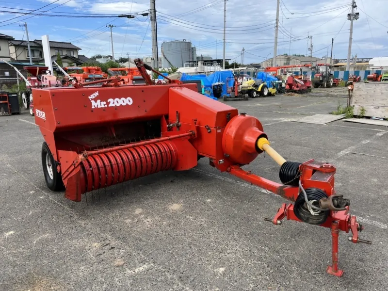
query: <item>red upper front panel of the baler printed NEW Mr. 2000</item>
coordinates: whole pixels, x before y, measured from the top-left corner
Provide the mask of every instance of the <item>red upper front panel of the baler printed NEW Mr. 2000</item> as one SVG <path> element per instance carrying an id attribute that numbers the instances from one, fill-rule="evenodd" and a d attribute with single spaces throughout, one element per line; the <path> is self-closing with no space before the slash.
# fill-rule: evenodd
<path id="1" fill-rule="evenodd" d="M 169 86 L 36 89 L 36 93 L 45 95 L 45 98 L 35 101 L 34 97 L 34 106 L 39 109 L 45 105 L 46 115 L 54 116 L 54 125 L 51 120 L 49 125 L 38 124 L 50 129 L 54 126 L 52 131 L 149 120 L 168 113 L 168 89 Z M 47 94 L 51 95 L 50 107 Z"/>

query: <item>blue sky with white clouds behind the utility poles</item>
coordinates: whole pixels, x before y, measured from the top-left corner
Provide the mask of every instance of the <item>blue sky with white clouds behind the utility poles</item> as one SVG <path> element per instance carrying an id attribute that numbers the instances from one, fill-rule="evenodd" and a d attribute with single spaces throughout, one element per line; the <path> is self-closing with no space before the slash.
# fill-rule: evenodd
<path id="1" fill-rule="evenodd" d="M 149 16 L 116 17 L 147 12 L 149 3 L 149 0 L 0 0 L 0 33 L 25 40 L 25 32 L 19 23 L 27 22 L 30 39 L 41 39 L 42 35 L 49 34 L 50 40 L 71 42 L 81 48 L 80 54 L 91 57 L 112 54 L 110 30 L 106 27 L 112 24 L 115 26 L 115 58 L 127 57 L 127 53 L 131 58 L 150 56 Z M 277 54 L 309 55 L 308 36 L 312 35 L 313 56 L 330 56 L 334 38 L 333 58 L 346 59 L 350 4 L 351 0 L 281 0 Z M 352 55 L 357 54 L 357 58 L 388 56 L 387 0 L 356 0 L 356 5 L 359 19 L 354 21 Z M 39 14 L 49 9 L 45 14 L 94 17 L 47 17 L 4 12 L 39 10 L 33 12 Z M 163 41 L 186 39 L 196 47 L 197 55 L 222 58 L 223 0 L 156 0 L 156 10 L 159 56 Z M 9 20 L 14 17 L 17 18 Z M 226 59 L 240 63 L 242 48 L 245 49 L 244 64 L 271 58 L 275 18 L 276 0 L 227 0 Z"/>

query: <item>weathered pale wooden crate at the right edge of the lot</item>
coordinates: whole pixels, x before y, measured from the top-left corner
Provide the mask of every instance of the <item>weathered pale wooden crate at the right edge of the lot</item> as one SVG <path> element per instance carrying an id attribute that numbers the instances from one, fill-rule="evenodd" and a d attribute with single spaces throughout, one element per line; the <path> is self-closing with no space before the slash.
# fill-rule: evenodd
<path id="1" fill-rule="evenodd" d="M 364 108 L 364 116 L 388 118 L 388 82 L 354 83 L 351 105 L 355 115 Z"/>

